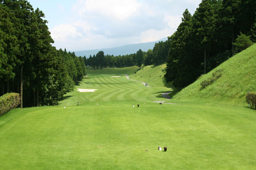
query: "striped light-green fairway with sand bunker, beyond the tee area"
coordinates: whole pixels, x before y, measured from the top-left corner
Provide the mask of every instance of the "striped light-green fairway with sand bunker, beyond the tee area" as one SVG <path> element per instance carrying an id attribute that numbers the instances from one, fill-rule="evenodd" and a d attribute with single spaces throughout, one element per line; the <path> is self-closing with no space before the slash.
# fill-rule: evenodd
<path id="1" fill-rule="evenodd" d="M 118 76 L 118 77 L 112 77 Z M 77 89 L 97 89 L 95 92 L 79 92 Z M 88 102 L 115 102 L 125 101 L 137 104 L 137 102 L 164 101 L 162 93 L 170 91 L 169 88 L 144 86 L 126 78 L 124 74 L 92 74 L 83 79 L 76 90 L 64 96 L 61 105 L 81 105 Z"/>

